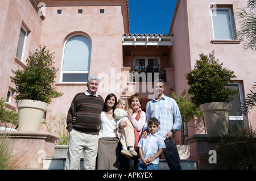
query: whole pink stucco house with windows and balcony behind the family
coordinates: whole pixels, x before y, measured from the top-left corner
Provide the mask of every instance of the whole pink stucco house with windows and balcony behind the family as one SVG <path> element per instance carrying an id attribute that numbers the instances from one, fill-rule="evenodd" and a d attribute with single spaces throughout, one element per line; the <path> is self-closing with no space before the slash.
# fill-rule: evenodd
<path id="1" fill-rule="evenodd" d="M 166 80 L 164 94 L 171 91 L 187 94 L 184 74 L 193 69 L 200 53 L 215 51 L 224 66 L 237 75 L 230 120 L 254 124 L 255 108 L 245 116 L 237 112 L 255 79 L 256 54 L 244 50 L 236 38 L 240 20 L 234 16 L 247 1 L 177 0 L 168 35 L 130 34 L 128 0 L 2 0 L 0 7 L 0 97 L 7 98 L 8 108 L 16 111 L 11 88 L 11 70 L 23 69 L 29 52 L 46 45 L 55 52 L 59 68 L 56 89 L 64 95 L 48 105 L 49 115 L 67 114 L 73 96 L 86 89 L 86 78 L 101 78 L 98 94 L 110 92 L 117 98 L 142 95 L 143 105 L 151 99 L 151 81 L 134 81 L 131 66 L 160 65 Z M 75 57 L 75 59 L 74 59 Z M 44 125 L 41 128 L 46 131 Z M 193 120 L 186 132 L 176 137 L 199 133 Z"/>

